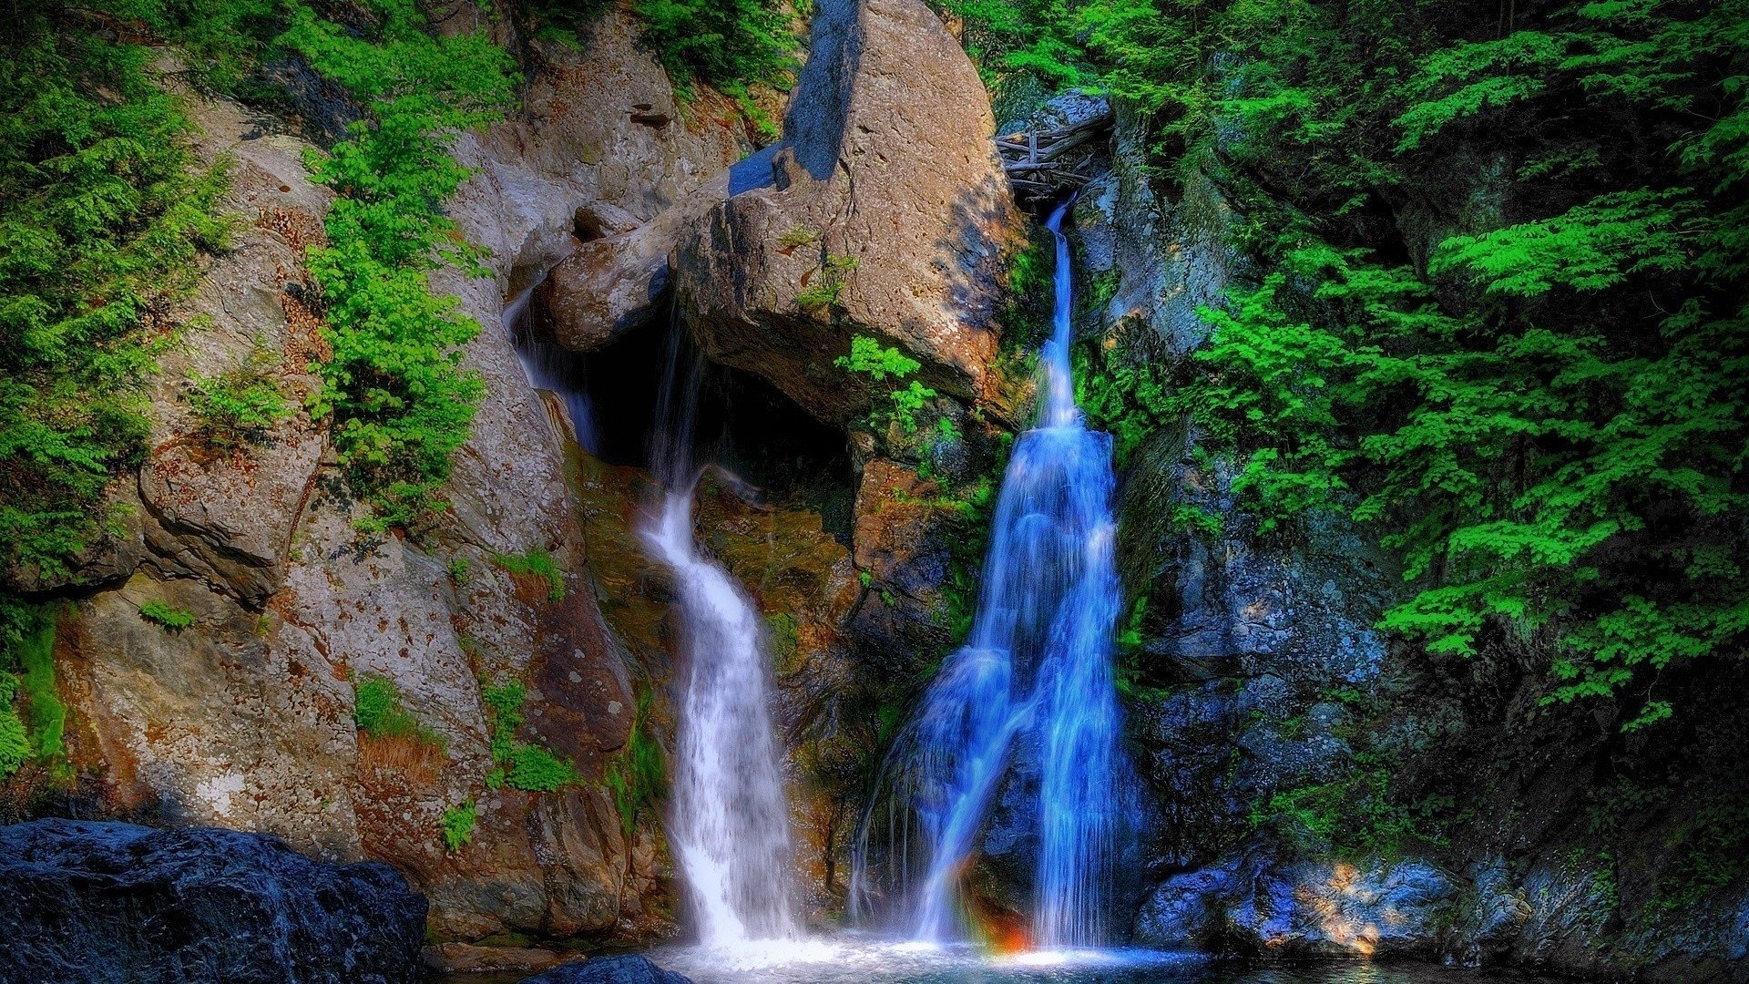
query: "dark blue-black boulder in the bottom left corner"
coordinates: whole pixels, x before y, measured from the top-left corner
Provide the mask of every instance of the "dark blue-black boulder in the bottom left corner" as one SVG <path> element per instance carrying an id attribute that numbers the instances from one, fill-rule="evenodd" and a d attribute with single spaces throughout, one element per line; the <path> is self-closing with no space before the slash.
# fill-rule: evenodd
<path id="1" fill-rule="evenodd" d="M 276 837 L 38 819 L 0 828 L 0 926 L 5 980 L 413 984 L 425 900 Z"/>

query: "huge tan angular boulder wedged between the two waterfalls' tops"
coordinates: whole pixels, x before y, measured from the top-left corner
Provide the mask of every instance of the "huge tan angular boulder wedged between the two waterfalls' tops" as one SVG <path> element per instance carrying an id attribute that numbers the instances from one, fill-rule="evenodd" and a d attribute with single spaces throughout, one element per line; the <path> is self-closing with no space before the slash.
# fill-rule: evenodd
<path id="1" fill-rule="evenodd" d="M 829 355 L 869 334 L 965 403 L 997 397 L 993 308 L 1018 215 L 983 84 L 918 0 L 826 0 L 784 138 L 679 243 L 707 355 L 843 424 L 868 394 Z M 826 355 L 826 357 L 822 357 Z"/>

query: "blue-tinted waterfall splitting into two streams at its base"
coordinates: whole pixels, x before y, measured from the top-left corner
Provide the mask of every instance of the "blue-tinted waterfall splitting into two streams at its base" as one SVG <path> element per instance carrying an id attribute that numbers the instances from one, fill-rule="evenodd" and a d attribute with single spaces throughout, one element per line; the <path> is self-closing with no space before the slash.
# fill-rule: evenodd
<path id="1" fill-rule="evenodd" d="M 922 940 L 965 935 L 960 881 L 1004 777 L 1037 784 L 1032 930 L 1041 945 L 1102 942 L 1130 814 L 1112 679 L 1121 592 L 1111 436 L 1088 431 L 1074 401 L 1067 208 L 1048 221 L 1056 310 L 1041 354 L 1039 425 L 1020 436 L 1002 476 L 972 634 L 894 751 L 895 795 L 929 846 L 915 896 Z M 1009 769 L 1014 758 L 1028 758 L 1025 779 Z M 862 872 L 854 877 L 866 884 Z"/>

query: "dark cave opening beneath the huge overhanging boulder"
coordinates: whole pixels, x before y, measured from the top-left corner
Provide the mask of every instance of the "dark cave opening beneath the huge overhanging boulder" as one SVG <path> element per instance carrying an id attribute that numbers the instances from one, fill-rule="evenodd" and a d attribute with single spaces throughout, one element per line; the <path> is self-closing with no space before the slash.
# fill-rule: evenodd
<path id="1" fill-rule="evenodd" d="M 537 291 L 516 338 L 525 362 L 539 355 L 546 378 L 567 390 L 560 396 L 572 406 L 579 445 L 609 464 L 649 467 L 670 331 L 675 327 L 668 319 L 654 319 L 595 352 L 572 354 L 551 341 L 549 313 Z M 693 347 L 689 338 L 682 343 Z M 855 485 L 845 432 L 764 378 L 703 361 L 691 459 L 735 473 L 759 490 L 763 503 L 820 513 L 826 532 L 850 543 Z"/>

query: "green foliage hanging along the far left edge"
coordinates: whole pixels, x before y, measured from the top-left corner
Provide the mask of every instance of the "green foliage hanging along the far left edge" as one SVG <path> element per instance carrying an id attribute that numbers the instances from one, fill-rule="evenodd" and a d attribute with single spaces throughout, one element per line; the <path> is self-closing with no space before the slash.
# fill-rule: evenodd
<path id="1" fill-rule="evenodd" d="M 0 37 L 0 567 L 51 578 L 112 518 L 170 303 L 226 233 L 150 53 L 63 19 L 26 4 Z"/>

